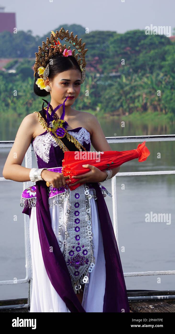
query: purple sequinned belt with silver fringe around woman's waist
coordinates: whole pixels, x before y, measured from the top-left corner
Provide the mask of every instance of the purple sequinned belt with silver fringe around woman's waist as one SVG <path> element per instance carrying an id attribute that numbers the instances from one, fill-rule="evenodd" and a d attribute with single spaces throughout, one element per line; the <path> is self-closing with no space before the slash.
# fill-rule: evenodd
<path id="1" fill-rule="evenodd" d="M 53 167 L 53 168 L 47 168 L 51 172 L 57 172 L 61 173 L 62 172 L 62 167 Z M 110 197 L 112 195 L 107 191 L 105 187 L 103 187 L 100 183 L 98 183 L 101 191 L 103 193 L 103 196 L 105 197 L 106 194 Z M 89 195 L 94 197 L 96 199 L 96 192 L 92 184 L 89 182 L 86 183 L 87 188 L 89 189 Z M 69 187 L 60 187 L 60 188 L 48 188 L 48 200 L 49 200 L 49 207 L 52 207 L 53 205 L 59 204 L 59 201 L 64 201 L 66 200 L 65 194 L 70 191 Z M 106 194 L 105 194 L 106 192 Z M 21 195 L 21 201 L 20 201 L 20 206 L 23 207 L 32 207 L 36 206 L 36 186 L 33 185 L 31 187 L 26 188 Z"/>

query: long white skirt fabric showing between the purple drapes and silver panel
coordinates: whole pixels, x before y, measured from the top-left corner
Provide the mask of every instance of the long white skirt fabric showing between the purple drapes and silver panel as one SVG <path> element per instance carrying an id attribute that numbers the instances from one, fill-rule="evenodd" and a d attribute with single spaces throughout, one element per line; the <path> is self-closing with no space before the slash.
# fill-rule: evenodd
<path id="1" fill-rule="evenodd" d="M 89 273 L 88 283 L 85 284 L 82 306 L 86 312 L 103 312 L 106 281 L 105 258 L 97 201 L 93 197 L 90 199 L 90 207 L 95 266 L 92 272 Z M 59 205 L 54 205 L 49 209 L 51 213 L 52 229 L 63 253 L 62 242 L 65 238 L 67 201 L 64 201 L 63 206 L 60 208 Z M 38 234 L 36 207 L 32 207 L 31 209 L 30 242 L 33 269 L 30 312 L 70 312 L 65 302 L 53 287 L 44 265 Z"/>

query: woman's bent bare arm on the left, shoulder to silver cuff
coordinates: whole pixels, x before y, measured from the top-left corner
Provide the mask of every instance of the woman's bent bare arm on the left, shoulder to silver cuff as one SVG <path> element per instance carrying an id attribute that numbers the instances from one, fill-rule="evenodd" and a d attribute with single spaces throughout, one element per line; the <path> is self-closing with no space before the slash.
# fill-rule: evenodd
<path id="1" fill-rule="evenodd" d="M 30 181 L 30 168 L 21 166 L 24 156 L 33 139 L 36 125 L 35 114 L 27 115 L 18 129 L 14 144 L 9 152 L 3 169 L 5 179 L 18 182 Z"/>

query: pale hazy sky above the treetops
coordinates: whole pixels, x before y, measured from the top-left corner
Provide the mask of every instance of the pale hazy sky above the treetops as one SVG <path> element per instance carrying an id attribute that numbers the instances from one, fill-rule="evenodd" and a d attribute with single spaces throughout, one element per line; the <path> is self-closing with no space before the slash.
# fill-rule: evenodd
<path id="1" fill-rule="evenodd" d="M 39 36 L 65 23 L 81 24 L 89 32 L 175 27 L 175 0 L 0 0 L 0 6 L 16 13 L 18 30 Z"/>

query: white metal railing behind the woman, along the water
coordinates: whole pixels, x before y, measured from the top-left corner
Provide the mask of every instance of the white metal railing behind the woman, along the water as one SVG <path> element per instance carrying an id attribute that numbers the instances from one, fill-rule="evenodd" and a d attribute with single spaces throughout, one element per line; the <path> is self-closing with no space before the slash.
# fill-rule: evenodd
<path id="1" fill-rule="evenodd" d="M 175 135 L 153 135 L 153 136 L 125 136 L 125 137 L 106 137 L 106 140 L 109 144 L 113 143 L 128 143 L 128 142 L 153 142 L 153 141 L 175 141 Z M 14 141 L 0 141 L 0 148 L 3 147 L 12 147 Z M 25 167 L 32 168 L 32 151 L 33 147 L 30 144 L 26 154 L 25 154 Z M 141 176 L 141 175 L 165 175 L 165 174 L 175 174 L 175 171 L 153 171 L 153 172 L 126 172 L 126 173 L 117 173 L 111 179 L 112 185 L 112 207 L 113 207 L 113 228 L 118 245 L 118 219 L 117 219 L 117 196 L 116 196 L 116 176 Z M 4 177 L 0 177 L 0 181 L 12 181 L 6 180 Z M 32 186 L 31 181 L 23 182 L 23 190 Z M 28 215 L 24 214 L 24 233 L 25 233 L 25 256 L 26 256 L 26 277 L 24 279 L 19 279 L 15 284 L 27 283 L 29 282 L 29 293 L 28 293 L 28 304 L 21 305 L 21 307 L 28 307 L 30 305 L 31 291 L 32 291 L 32 259 L 31 259 L 31 250 L 30 250 L 30 218 Z M 175 270 L 167 271 L 155 271 L 155 272 L 133 272 L 133 273 L 124 273 L 124 277 L 133 277 L 133 276 L 152 276 L 152 275 L 171 275 L 175 274 Z M 14 284 L 13 280 L 0 281 L 0 285 Z M 132 297 L 133 299 L 134 297 Z M 19 307 L 20 305 L 18 305 Z M 13 308 L 17 305 L 13 305 Z M 0 307 L 0 309 L 3 307 Z"/>

